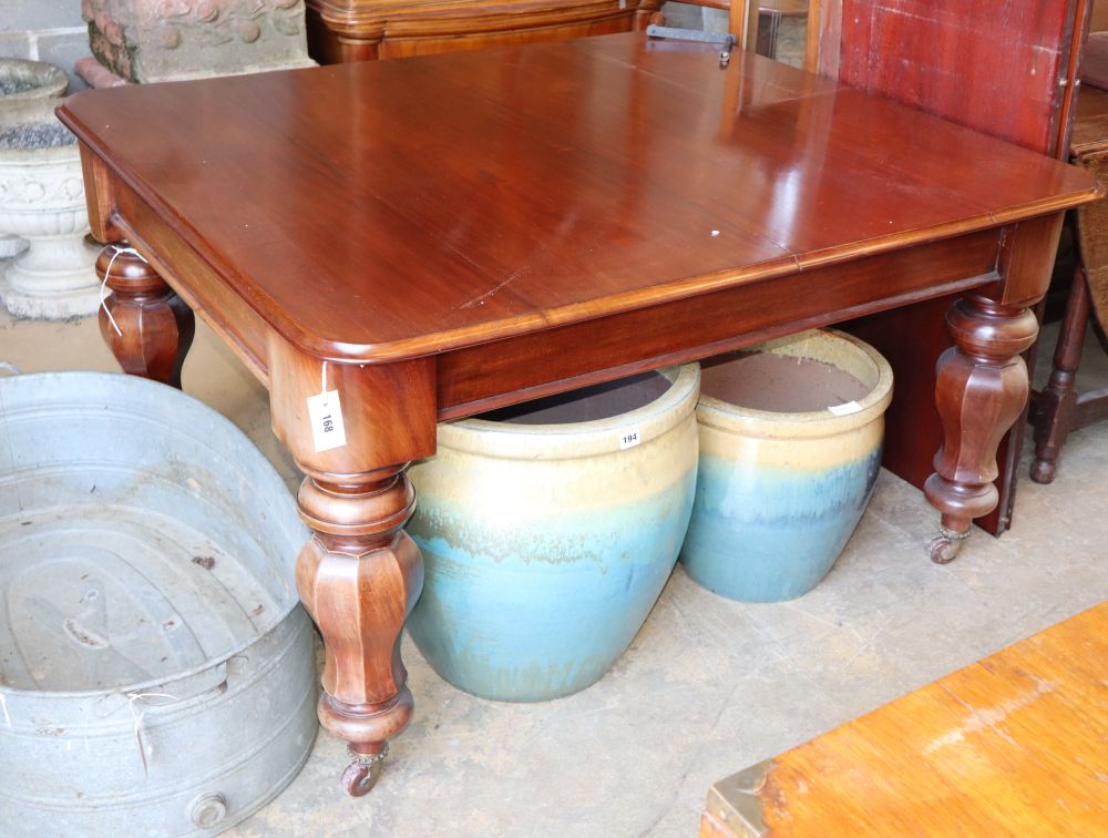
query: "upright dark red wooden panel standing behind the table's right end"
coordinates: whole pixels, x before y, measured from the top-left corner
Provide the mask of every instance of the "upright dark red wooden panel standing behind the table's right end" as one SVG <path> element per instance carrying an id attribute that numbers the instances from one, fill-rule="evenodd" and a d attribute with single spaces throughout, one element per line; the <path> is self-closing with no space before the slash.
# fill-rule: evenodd
<path id="1" fill-rule="evenodd" d="M 1108 7 L 1108 3 L 1101 2 Z M 824 0 L 819 70 L 1033 151 L 1065 154 L 1068 81 L 1086 0 Z M 942 440 L 934 365 L 951 345 L 936 304 L 847 326 L 891 358 L 902 401 L 889 417 L 885 464 L 921 486 Z M 904 336 L 911 336 L 905 347 Z M 1001 503 L 978 523 L 1008 528 L 1024 433 L 997 453 Z"/>

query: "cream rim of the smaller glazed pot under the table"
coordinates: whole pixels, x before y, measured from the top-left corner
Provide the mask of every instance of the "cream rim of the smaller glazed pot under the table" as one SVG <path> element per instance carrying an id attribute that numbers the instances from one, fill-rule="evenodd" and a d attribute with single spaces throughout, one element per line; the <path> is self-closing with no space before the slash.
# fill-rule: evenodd
<path id="1" fill-rule="evenodd" d="M 889 366 L 889 361 L 876 349 L 853 335 L 835 329 L 813 329 L 792 336 L 792 339 L 797 338 L 818 338 L 828 343 L 837 343 L 873 364 L 876 368 L 878 380 L 863 398 L 858 399 L 859 409 L 856 411 L 837 416 L 825 408 L 794 413 L 752 410 L 701 395 L 700 402 L 697 405 L 697 420 L 701 425 L 725 431 L 741 431 L 769 439 L 794 439 L 844 433 L 869 425 L 885 412 L 893 396 L 893 370 Z M 751 347 L 751 349 L 758 349 L 761 346 L 766 346 L 766 344 Z"/>

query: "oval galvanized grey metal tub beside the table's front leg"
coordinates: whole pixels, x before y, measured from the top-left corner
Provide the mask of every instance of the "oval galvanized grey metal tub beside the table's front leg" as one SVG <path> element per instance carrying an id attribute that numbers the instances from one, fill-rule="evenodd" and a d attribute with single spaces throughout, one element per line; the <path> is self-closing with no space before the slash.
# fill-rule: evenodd
<path id="1" fill-rule="evenodd" d="M 0 379 L 0 830 L 213 835 L 317 729 L 288 489 L 122 375 Z"/>

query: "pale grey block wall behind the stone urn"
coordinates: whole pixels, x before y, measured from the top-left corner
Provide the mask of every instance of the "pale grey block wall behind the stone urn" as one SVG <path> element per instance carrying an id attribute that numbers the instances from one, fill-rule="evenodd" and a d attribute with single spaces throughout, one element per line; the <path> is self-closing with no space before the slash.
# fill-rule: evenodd
<path id="1" fill-rule="evenodd" d="M 73 73 L 89 51 L 81 0 L 0 0 L 0 58 L 49 61 L 70 74 L 70 92 L 88 86 Z"/>

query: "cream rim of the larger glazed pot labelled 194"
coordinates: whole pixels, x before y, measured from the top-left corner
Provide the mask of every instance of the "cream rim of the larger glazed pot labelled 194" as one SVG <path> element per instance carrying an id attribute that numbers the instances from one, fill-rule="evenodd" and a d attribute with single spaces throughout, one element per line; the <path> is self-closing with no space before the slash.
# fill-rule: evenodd
<path id="1" fill-rule="evenodd" d="M 649 442 L 677 427 L 696 409 L 700 367 L 686 364 L 657 370 L 670 385 L 643 407 L 607 419 L 561 425 L 519 425 L 462 419 L 439 425 L 439 444 L 502 460 L 562 460 L 618 452 L 624 432 Z"/>

